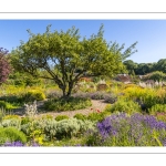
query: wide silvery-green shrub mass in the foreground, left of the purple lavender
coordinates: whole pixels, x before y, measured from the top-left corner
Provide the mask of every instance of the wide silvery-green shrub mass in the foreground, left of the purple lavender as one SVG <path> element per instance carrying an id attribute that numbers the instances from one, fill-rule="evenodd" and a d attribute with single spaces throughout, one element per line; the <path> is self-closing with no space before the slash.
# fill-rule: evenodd
<path id="1" fill-rule="evenodd" d="M 91 121 L 81 121 L 69 118 L 62 121 L 55 120 L 34 120 L 28 124 L 21 125 L 21 131 L 28 139 L 34 139 L 35 134 L 44 135 L 44 141 L 54 141 L 63 138 L 79 137 L 87 129 L 95 129 L 95 123 Z"/>

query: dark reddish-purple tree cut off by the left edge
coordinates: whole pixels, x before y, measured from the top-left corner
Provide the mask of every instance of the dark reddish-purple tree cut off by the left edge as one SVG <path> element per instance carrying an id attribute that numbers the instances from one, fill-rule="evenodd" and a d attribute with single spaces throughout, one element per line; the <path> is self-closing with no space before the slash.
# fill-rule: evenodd
<path id="1" fill-rule="evenodd" d="M 0 48 L 0 85 L 4 83 L 11 72 L 10 64 L 7 60 L 8 50 Z"/>

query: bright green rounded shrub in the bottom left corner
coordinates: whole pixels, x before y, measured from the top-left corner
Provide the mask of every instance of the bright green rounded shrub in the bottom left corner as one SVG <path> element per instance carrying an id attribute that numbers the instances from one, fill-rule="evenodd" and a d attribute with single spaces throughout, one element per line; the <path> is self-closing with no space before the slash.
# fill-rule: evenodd
<path id="1" fill-rule="evenodd" d="M 4 144 L 6 142 L 17 142 L 27 143 L 25 135 L 18 131 L 14 127 L 0 128 L 0 144 Z"/>

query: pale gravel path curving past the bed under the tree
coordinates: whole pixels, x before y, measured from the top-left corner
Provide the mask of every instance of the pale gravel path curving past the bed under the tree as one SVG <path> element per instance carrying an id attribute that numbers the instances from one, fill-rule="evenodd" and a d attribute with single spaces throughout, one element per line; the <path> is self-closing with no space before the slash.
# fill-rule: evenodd
<path id="1" fill-rule="evenodd" d="M 107 105 L 107 103 L 104 103 L 102 100 L 92 100 L 92 106 L 84 108 L 84 110 L 77 110 L 77 111 L 65 111 L 65 112 L 60 112 L 60 113 L 55 113 L 55 112 L 46 112 L 46 113 L 41 113 L 38 116 L 42 116 L 42 115 L 52 115 L 52 116 L 58 116 L 58 115 L 68 115 L 69 117 L 73 117 L 75 114 L 84 114 L 87 115 L 92 112 L 96 112 L 96 110 L 100 110 L 101 112 L 105 108 L 105 106 Z"/>

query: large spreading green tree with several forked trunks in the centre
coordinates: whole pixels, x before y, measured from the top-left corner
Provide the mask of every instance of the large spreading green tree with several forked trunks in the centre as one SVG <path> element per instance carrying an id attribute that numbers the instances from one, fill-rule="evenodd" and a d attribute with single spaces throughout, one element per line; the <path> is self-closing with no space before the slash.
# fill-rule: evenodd
<path id="1" fill-rule="evenodd" d="M 101 25 L 97 34 L 89 39 L 81 38 L 74 27 L 64 31 L 46 31 L 33 34 L 11 53 L 11 62 L 19 71 L 24 71 L 37 77 L 53 80 L 63 92 L 63 97 L 71 95 L 74 84 L 86 73 L 90 76 L 114 76 L 123 71 L 123 61 L 136 52 L 132 44 L 124 52 L 123 45 L 116 42 L 107 43 Z M 46 73 L 43 75 L 41 71 Z"/>

